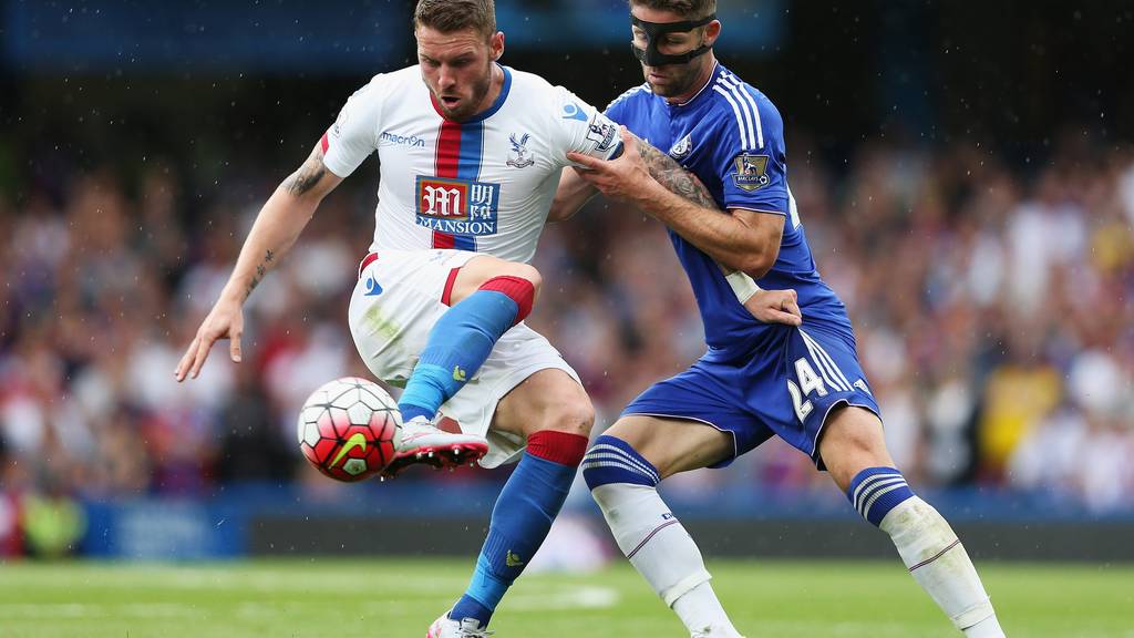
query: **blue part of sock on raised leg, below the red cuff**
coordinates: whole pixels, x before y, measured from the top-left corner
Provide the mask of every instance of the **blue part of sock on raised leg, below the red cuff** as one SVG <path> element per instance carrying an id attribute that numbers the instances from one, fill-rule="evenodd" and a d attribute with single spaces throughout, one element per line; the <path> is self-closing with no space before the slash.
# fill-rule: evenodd
<path id="1" fill-rule="evenodd" d="M 403 422 L 418 415 L 432 419 L 480 370 L 518 312 L 507 294 L 479 289 L 442 314 L 398 401 Z"/>

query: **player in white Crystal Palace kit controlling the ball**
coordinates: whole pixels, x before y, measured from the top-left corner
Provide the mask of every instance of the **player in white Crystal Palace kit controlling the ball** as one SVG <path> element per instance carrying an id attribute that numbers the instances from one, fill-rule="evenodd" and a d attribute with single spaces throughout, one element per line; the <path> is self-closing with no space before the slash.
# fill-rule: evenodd
<path id="1" fill-rule="evenodd" d="M 355 93 L 268 200 L 176 376 L 195 377 L 220 338 L 240 360 L 244 301 L 322 198 L 378 151 L 374 241 L 348 316 L 371 371 L 406 383 L 401 443 L 388 471 L 482 455 L 496 467 L 526 447 L 468 589 L 429 630 L 468 638 L 485 635 L 586 450 L 594 412 L 577 375 L 522 324 L 540 287 L 527 262 L 567 153 L 609 159 L 621 142 L 613 123 L 569 91 L 497 64 L 503 34 L 491 0 L 422 0 L 414 25 L 420 64 Z M 768 291 L 746 308 L 763 320 L 798 321 L 790 291 Z M 439 409 L 463 431 L 433 427 Z"/>

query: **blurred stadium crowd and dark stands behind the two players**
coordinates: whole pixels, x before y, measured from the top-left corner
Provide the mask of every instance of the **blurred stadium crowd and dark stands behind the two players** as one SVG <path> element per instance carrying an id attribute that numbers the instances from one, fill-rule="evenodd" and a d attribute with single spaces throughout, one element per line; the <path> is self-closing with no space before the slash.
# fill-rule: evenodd
<path id="1" fill-rule="evenodd" d="M 215 351 L 200 379 L 171 375 L 262 201 L 357 86 L 412 64 L 409 5 L 0 8 L 0 556 L 389 552 L 375 538 L 393 535 L 471 559 L 505 472 L 339 486 L 296 450 L 306 394 L 365 372 L 345 310 L 374 160 L 252 296 L 245 362 Z M 641 82 L 619 2 L 498 11 L 505 64 L 599 106 Z M 978 557 L 1129 560 L 1131 3 L 720 14 L 718 56 L 784 114 L 809 240 L 906 476 L 984 538 Z M 585 379 L 596 433 L 702 351 L 640 213 L 592 204 L 547 229 L 535 265 L 530 324 Z M 843 543 L 871 530 L 776 442 L 669 493 L 709 555 L 887 552 Z M 567 545 L 609 555 L 585 490 L 568 510 Z"/>

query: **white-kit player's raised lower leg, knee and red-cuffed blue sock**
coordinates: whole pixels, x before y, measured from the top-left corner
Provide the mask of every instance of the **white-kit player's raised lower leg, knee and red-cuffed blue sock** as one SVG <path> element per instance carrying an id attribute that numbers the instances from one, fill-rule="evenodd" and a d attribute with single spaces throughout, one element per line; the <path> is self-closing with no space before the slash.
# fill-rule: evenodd
<path id="1" fill-rule="evenodd" d="M 432 420 L 484 364 L 505 331 L 527 317 L 540 284 L 535 268 L 490 255 L 455 269 L 440 300 L 451 308 L 430 330 L 398 401 L 403 420 Z"/>

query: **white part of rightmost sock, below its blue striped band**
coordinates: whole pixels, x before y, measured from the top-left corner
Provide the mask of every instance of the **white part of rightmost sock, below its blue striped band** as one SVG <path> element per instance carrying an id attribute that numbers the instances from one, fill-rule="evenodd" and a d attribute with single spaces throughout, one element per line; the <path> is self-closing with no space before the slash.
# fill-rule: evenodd
<path id="1" fill-rule="evenodd" d="M 937 510 L 913 496 L 890 510 L 878 527 L 890 535 L 914 580 L 957 629 L 971 637 L 1004 636 L 973 562 Z"/>

